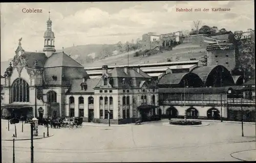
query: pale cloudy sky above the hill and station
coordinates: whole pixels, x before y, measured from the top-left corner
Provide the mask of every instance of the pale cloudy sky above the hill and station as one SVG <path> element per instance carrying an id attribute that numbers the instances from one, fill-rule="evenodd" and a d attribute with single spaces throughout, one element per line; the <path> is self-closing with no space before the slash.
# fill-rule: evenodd
<path id="1" fill-rule="evenodd" d="M 254 29 L 253 1 L 194 2 L 65 2 L 1 3 L 1 61 L 15 55 L 18 39 L 25 51 L 44 48 L 46 21 L 52 20 L 55 49 L 73 44 L 113 44 L 141 39 L 142 34 L 186 31 L 193 21 L 228 31 Z M 208 8 L 208 12 L 177 12 L 176 8 Z M 212 12 L 228 8 L 229 12 Z M 23 9 L 41 9 L 41 13 L 23 13 Z"/>

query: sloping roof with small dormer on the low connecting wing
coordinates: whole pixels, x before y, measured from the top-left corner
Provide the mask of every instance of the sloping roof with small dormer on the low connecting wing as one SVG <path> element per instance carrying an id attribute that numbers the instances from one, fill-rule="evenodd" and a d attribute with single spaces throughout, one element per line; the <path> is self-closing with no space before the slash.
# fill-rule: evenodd
<path id="1" fill-rule="evenodd" d="M 87 90 L 81 89 L 81 83 L 83 82 L 83 79 L 73 79 L 71 81 L 71 87 L 68 90 L 66 94 L 93 94 L 94 93 L 94 87 L 99 83 L 100 78 L 89 78 L 86 80 L 87 83 Z"/>

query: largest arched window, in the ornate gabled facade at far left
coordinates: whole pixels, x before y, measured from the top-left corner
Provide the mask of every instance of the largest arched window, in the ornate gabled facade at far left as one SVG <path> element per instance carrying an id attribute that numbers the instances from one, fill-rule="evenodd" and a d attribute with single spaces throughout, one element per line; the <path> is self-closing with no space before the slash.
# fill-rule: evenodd
<path id="1" fill-rule="evenodd" d="M 19 78 L 12 84 L 12 99 L 13 102 L 29 102 L 29 85 Z"/>

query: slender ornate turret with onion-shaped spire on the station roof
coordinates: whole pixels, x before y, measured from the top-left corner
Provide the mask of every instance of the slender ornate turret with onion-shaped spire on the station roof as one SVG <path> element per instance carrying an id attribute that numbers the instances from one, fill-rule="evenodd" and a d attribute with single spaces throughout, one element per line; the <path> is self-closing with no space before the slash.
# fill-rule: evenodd
<path id="1" fill-rule="evenodd" d="M 54 33 L 52 32 L 52 20 L 50 19 L 50 11 L 49 11 L 49 19 L 47 20 L 47 31 L 45 32 L 45 46 L 42 51 L 46 53 L 47 57 L 50 57 L 52 53 L 56 50 L 54 48 Z"/>

